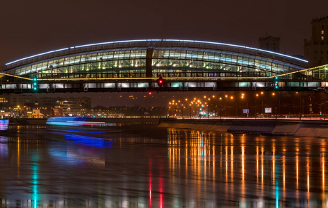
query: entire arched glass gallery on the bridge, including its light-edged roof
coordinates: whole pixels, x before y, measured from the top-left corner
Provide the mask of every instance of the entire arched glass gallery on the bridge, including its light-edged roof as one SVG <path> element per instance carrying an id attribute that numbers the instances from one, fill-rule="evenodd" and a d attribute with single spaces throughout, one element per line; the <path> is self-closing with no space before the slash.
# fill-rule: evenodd
<path id="1" fill-rule="evenodd" d="M 5 73 L 38 78 L 274 76 L 306 69 L 306 60 L 247 46 L 196 40 L 85 44 L 6 64 Z"/>

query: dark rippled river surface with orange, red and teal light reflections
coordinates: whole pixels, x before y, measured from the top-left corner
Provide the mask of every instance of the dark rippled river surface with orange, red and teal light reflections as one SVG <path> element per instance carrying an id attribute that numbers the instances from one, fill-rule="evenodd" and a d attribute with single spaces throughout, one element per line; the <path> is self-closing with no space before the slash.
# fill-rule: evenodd
<path id="1" fill-rule="evenodd" d="M 0 136 L 0 207 L 327 207 L 327 141 L 156 126 Z"/>

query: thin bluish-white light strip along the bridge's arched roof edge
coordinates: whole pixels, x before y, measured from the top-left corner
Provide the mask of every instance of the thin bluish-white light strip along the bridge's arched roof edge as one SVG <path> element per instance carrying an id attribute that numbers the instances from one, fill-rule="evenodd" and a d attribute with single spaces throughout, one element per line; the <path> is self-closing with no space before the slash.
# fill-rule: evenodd
<path id="1" fill-rule="evenodd" d="M 39 55 L 45 55 L 45 54 L 48 54 L 48 53 L 54 53 L 54 52 L 58 52 L 58 51 L 65 51 L 67 49 L 77 49 L 77 48 L 82 48 L 82 47 L 98 46 L 98 45 L 103 45 L 103 44 L 115 44 L 115 43 L 124 43 L 124 42 L 147 42 L 147 41 L 194 42 L 194 43 L 204 43 L 204 44 L 216 44 L 216 45 L 222 45 L 222 46 L 233 46 L 233 47 L 239 47 L 239 48 L 242 48 L 242 49 L 251 49 L 251 50 L 255 50 L 255 51 L 262 51 L 262 52 L 265 52 L 265 53 L 272 53 L 272 54 L 281 55 L 281 56 L 284 56 L 284 57 L 287 57 L 287 58 L 293 58 L 295 60 L 300 60 L 302 62 L 308 62 L 307 60 L 303 60 L 303 59 L 300 59 L 300 58 L 295 58 L 295 57 L 290 56 L 290 55 L 285 55 L 285 54 L 276 53 L 276 52 L 273 52 L 273 51 L 265 51 L 263 49 L 256 49 L 256 48 L 252 48 L 252 47 L 240 46 L 240 45 L 235 45 L 235 44 L 225 44 L 225 43 L 220 43 L 220 42 L 208 42 L 208 41 L 199 41 L 199 40 L 150 39 L 150 40 L 121 40 L 121 41 L 112 41 L 112 42 L 100 42 L 100 43 L 96 43 L 96 44 L 85 44 L 85 45 L 81 45 L 81 46 L 72 46 L 72 47 L 65 48 L 65 49 L 58 49 L 58 50 L 55 50 L 55 51 L 48 51 L 48 52 L 45 52 L 45 53 L 39 53 L 39 54 L 36 54 L 36 55 L 28 56 L 26 58 L 21 58 L 19 60 L 15 60 L 13 62 L 8 62 L 8 63 L 6 63 L 6 65 L 13 64 L 13 63 L 19 62 L 21 60 L 34 58 L 34 57 L 39 56 Z"/>

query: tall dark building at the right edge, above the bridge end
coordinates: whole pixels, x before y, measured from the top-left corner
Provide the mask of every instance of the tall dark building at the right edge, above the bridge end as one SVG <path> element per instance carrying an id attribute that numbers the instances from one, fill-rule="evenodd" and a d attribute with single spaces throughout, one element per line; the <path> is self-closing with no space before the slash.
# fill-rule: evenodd
<path id="1" fill-rule="evenodd" d="M 328 64 L 328 16 L 312 19 L 311 40 L 304 40 L 304 56 L 309 67 Z"/>

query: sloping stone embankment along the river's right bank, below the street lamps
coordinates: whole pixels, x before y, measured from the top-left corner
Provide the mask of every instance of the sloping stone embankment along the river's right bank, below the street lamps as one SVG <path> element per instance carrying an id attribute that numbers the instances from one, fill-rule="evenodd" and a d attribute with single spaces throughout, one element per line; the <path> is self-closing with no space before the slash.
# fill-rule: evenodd
<path id="1" fill-rule="evenodd" d="M 287 119 L 161 119 L 161 127 L 233 134 L 328 137 L 328 121 Z"/>

